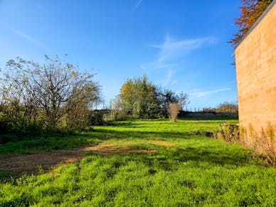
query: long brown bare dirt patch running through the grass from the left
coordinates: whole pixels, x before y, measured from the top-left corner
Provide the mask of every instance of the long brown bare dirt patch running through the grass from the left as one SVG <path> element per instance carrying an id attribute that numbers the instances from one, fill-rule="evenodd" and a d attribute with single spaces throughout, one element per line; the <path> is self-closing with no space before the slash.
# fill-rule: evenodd
<path id="1" fill-rule="evenodd" d="M 23 174 L 36 173 L 39 168 L 51 169 L 60 164 L 80 161 L 85 152 L 100 152 L 110 154 L 114 152 L 142 152 L 154 154 L 155 150 L 130 149 L 129 147 L 116 147 L 115 144 L 102 142 L 93 147 L 80 147 L 69 150 L 55 150 L 52 152 L 38 152 L 36 154 L 14 154 L 4 155 L 0 158 L 0 173 Z"/>

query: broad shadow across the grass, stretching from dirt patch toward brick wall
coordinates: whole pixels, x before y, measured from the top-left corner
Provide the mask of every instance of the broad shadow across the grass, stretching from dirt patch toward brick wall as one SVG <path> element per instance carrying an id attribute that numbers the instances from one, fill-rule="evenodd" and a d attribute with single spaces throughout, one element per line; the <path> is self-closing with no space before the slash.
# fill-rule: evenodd
<path id="1" fill-rule="evenodd" d="M 135 162 L 142 162 L 149 167 L 149 174 L 155 174 L 160 170 L 174 171 L 181 166 L 189 164 L 202 170 L 208 170 L 213 166 L 228 166 L 230 168 L 257 165 L 256 161 L 250 158 L 250 152 L 245 149 L 240 149 L 239 152 L 228 150 L 225 152 L 216 152 L 212 149 L 204 147 L 193 148 L 170 148 L 158 147 L 156 154 L 144 154 L 142 152 L 122 153 L 115 152 L 112 154 L 102 155 L 98 152 L 90 152 L 87 155 L 96 156 L 117 156 L 117 160 L 129 160 Z M 113 158 L 114 159 L 114 158 Z"/>

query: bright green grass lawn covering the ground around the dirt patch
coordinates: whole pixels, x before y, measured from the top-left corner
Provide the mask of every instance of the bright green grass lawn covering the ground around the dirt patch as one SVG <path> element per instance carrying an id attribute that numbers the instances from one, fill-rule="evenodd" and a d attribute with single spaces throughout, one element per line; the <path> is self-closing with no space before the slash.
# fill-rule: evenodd
<path id="1" fill-rule="evenodd" d="M 2 144 L 1 154 L 87 150 L 72 164 L 1 181 L 0 206 L 276 206 L 275 168 L 237 144 L 191 133 L 212 132 L 222 122 L 238 121 L 112 122 L 37 139 L 43 144 Z"/>

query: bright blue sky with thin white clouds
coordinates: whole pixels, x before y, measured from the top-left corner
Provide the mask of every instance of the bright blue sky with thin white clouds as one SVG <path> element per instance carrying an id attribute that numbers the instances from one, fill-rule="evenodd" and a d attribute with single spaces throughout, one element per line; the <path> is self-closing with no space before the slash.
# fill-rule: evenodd
<path id="1" fill-rule="evenodd" d="M 126 78 L 190 96 L 189 107 L 235 102 L 233 48 L 240 0 L 0 0 L 0 68 L 44 54 L 93 69 L 106 102 Z"/>

